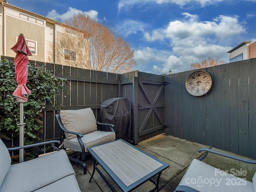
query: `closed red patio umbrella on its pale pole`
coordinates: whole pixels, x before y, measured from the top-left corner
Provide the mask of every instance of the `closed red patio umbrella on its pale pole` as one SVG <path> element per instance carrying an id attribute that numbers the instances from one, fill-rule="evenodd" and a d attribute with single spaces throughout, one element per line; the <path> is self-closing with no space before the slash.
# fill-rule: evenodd
<path id="1" fill-rule="evenodd" d="M 17 88 L 13 92 L 13 96 L 16 97 L 17 101 L 20 103 L 20 146 L 24 145 L 24 112 L 23 103 L 28 102 L 28 96 L 30 95 L 30 90 L 27 88 L 26 83 L 28 79 L 28 56 L 32 53 L 28 49 L 26 40 L 23 34 L 18 37 L 17 43 L 11 48 L 16 52 L 14 58 L 15 64 L 15 77 L 18 83 Z M 20 162 L 23 162 L 24 150 L 20 150 Z"/>

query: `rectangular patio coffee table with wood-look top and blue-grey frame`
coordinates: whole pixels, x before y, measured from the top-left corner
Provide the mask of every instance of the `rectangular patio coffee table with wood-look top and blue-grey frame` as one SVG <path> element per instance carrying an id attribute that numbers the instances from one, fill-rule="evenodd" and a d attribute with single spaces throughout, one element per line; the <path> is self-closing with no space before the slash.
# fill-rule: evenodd
<path id="1" fill-rule="evenodd" d="M 116 190 L 98 169 L 97 165 L 100 164 L 123 192 L 132 191 L 146 181 L 151 181 L 155 184 L 155 188 L 151 192 L 159 191 L 160 175 L 163 170 L 169 167 L 168 164 L 122 139 L 89 147 L 88 151 L 92 154 L 94 161 L 93 172 L 89 182 L 91 182 L 94 172 L 97 170 L 114 192 Z M 156 175 L 158 175 L 157 181 L 153 180 Z"/>

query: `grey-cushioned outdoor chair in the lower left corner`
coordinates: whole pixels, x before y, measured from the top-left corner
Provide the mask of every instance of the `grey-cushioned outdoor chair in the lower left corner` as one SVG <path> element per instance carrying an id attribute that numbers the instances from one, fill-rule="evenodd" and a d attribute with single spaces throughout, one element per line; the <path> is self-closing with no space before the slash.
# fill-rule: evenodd
<path id="1" fill-rule="evenodd" d="M 58 140 L 7 148 L 0 139 L 1 192 L 81 192 L 76 173 Z M 56 152 L 25 162 L 12 164 L 9 152 L 51 144 Z"/>

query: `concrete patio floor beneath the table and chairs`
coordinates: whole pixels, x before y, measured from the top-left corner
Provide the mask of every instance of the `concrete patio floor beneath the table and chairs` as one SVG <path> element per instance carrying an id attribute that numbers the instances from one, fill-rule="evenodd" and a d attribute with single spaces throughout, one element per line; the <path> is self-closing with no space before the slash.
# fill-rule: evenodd
<path id="1" fill-rule="evenodd" d="M 210 146 L 189 142 L 187 140 L 168 136 L 165 134 L 140 142 L 138 145 L 136 145 L 136 147 L 170 165 L 170 167 L 164 170 L 161 174 L 159 183 L 160 192 L 174 192 L 176 186 L 178 186 L 193 158 L 198 159 L 204 154 L 199 153 L 198 149 L 211 148 Z M 228 153 L 233 154 L 230 152 Z M 241 155 L 236 156 L 244 157 Z M 256 172 L 256 165 L 254 164 L 247 164 L 214 154 L 208 154 L 203 162 L 219 168 L 220 170 L 230 170 L 231 168 L 234 170 L 246 170 L 247 174 L 245 177 L 246 180 L 249 181 L 252 181 L 252 177 Z M 107 186 L 98 172 L 95 172 L 92 182 L 89 183 L 93 170 L 93 161 L 91 156 L 86 158 L 87 174 L 85 175 L 83 174 L 83 169 L 80 164 L 72 162 L 72 165 L 76 172 L 76 179 L 82 192 L 111 192 L 110 188 Z M 106 178 L 108 178 L 117 192 L 121 191 L 118 186 L 114 184 L 112 179 L 106 174 L 106 172 L 104 172 L 104 175 Z M 242 178 L 245 177 L 242 176 Z M 134 192 L 148 192 L 152 188 L 154 188 L 154 185 L 148 181 L 142 186 L 136 188 Z"/>

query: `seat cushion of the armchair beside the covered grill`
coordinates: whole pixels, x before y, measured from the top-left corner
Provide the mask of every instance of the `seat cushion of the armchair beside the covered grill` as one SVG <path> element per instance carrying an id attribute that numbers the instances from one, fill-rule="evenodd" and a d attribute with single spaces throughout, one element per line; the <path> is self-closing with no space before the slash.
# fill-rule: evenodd
<path id="1" fill-rule="evenodd" d="M 84 143 L 85 152 L 88 152 L 87 148 L 95 145 L 99 145 L 102 143 L 114 141 L 116 138 L 116 134 L 110 131 L 94 131 L 88 134 L 85 134 L 81 139 Z M 77 138 L 73 139 L 64 139 L 65 148 L 72 149 L 75 151 L 82 151 L 80 144 Z"/>

